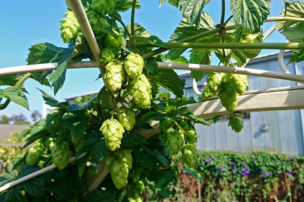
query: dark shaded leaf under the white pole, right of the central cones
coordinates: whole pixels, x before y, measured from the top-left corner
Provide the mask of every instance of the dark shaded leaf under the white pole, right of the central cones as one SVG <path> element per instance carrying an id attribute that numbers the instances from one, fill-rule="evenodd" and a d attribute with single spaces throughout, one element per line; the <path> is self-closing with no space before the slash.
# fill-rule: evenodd
<path id="1" fill-rule="evenodd" d="M 159 69 L 157 75 L 151 75 L 150 82 L 159 84 L 181 98 L 184 95 L 185 79 L 180 79 L 172 69 Z"/>

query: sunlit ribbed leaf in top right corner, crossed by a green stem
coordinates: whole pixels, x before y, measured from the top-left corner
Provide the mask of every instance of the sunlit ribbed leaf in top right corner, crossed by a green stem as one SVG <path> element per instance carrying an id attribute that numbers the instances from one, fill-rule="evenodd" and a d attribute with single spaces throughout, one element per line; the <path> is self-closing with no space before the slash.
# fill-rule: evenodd
<path id="1" fill-rule="evenodd" d="M 285 16 L 286 8 L 282 8 L 281 17 Z M 286 17 L 304 18 L 304 3 L 300 1 L 295 1 L 287 7 Z M 289 26 L 297 23 L 297 21 L 279 21 L 275 24 L 275 28 L 279 31 L 288 28 Z"/>

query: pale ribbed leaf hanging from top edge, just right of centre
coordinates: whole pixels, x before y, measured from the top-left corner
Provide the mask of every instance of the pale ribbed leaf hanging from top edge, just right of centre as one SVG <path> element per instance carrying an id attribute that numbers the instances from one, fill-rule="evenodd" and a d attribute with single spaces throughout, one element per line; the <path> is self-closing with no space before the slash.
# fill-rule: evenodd
<path id="1" fill-rule="evenodd" d="M 209 2 L 211 0 L 180 0 L 178 6 L 181 6 L 181 12 L 184 17 L 187 17 L 187 22 L 190 25 L 195 24 L 199 29 L 202 10 Z"/>

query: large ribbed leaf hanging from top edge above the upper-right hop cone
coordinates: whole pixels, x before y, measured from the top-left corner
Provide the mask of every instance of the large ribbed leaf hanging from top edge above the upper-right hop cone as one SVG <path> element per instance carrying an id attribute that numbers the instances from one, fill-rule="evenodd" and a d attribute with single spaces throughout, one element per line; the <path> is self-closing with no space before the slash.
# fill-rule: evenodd
<path id="1" fill-rule="evenodd" d="M 270 13 L 269 2 L 271 0 L 230 0 L 230 11 L 237 25 L 257 33 Z"/>

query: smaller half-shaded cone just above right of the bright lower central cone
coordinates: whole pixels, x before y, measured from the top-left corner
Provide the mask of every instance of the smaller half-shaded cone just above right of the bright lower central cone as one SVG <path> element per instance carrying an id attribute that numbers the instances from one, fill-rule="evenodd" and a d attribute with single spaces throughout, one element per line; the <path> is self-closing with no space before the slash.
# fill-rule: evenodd
<path id="1" fill-rule="evenodd" d="M 131 131 L 135 124 L 135 113 L 133 109 L 120 107 L 118 110 L 118 120 L 127 131 Z"/>

